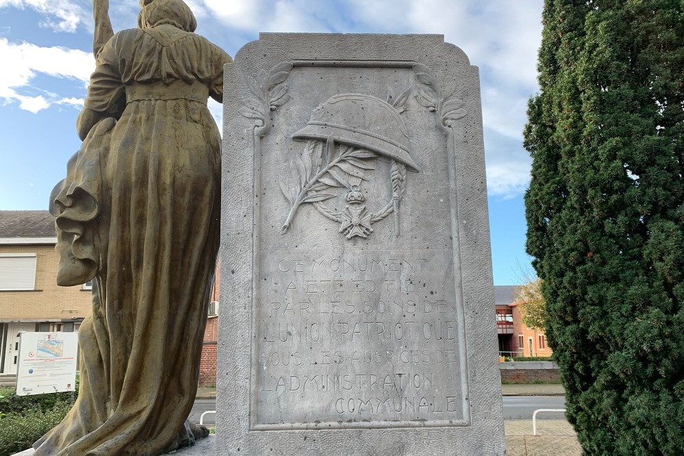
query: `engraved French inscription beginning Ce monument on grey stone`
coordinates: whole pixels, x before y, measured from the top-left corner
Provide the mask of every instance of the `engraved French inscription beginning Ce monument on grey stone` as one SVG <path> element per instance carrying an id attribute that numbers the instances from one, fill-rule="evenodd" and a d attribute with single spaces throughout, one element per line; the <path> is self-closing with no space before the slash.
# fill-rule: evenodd
<path id="1" fill-rule="evenodd" d="M 262 252 L 254 429 L 465 424 L 452 255 Z"/>

